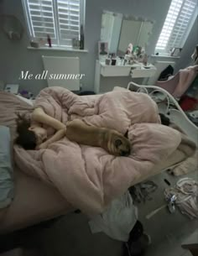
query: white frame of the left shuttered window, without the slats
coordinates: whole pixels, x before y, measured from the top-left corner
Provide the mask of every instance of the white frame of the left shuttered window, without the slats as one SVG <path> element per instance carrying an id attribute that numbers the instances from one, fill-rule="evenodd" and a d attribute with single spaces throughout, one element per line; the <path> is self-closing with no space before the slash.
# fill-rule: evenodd
<path id="1" fill-rule="evenodd" d="M 31 0 L 30 0 L 31 1 Z M 38 0 L 38 2 L 42 3 L 42 0 Z M 66 44 L 65 41 L 67 39 L 61 39 L 61 34 L 60 34 L 60 20 L 59 20 L 59 13 L 58 13 L 58 1 L 59 2 L 72 2 L 72 0 L 50 0 L 52 3 L 52 8 L 53 8 L 53 19 L 54 19 L 54 29 L 55 29 L 55 39 L 51 39 L 52 45 L 55 46 L 56 48 L 65 48 L 65 49 L 70 49 L 72 50 L 72 38 L 71 36 L 68 37 L 68 41 L 70 41 L 70 44 Z M 81 37 L 81 25 L 83 26 L 83 33 L 85 34 L 85 12 L 86 12 L 86 0 L 79 0 L 80 2 L 80 18 L 79 18 L 79 25 L 78 25 L 78 34 L 73 36 L 73 38 L 79 39 Z M 29 34 L 29 39 L 38 41 L 40 38 L 43 38 L 44 40 L 47 39 L 47 32 L 45 36 L 43 37 L 37 37 L 34 36 L 34 28 L 32 24 L 32 18 L 29 13 L 29 0 L 22 0 L 23 4 L 23 13 L 26 19 L 26 24 L 28 28 L 28 34 Z M 70 21 L 69 21 L 70 22 Z M 46 41 L 45 46 L 48 46 L 48 43 Z"/>

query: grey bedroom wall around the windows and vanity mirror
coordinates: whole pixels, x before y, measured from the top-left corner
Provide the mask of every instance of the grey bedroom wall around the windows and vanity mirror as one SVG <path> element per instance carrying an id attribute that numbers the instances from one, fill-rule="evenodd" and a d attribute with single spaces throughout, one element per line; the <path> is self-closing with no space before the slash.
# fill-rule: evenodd
<path id="1" fill-rule="evenodd" d="M 16 15 L 25 26 L 23 9 L 20 0 L 0 0 L 3 13 Z M 93 90 L 95 60 L 97 57 L 97 42 L 100 40 L 102 10 L 115 13 L 132 14 L 134 16 L 155 21 L 154 32 L 148 45 L 148 55 L 154 53 L 154 45 L 164 24 L 169 9 L 170 0 L 86 0 L 86 49 L 88 53 L 73 53 L 66 51 L 27 50 L 29 38 L 27 33 L 18 42 L 8 40 L 0 34 L 0 80 L 6 83 L 18 83 L 21 70 L 29 70 L 36 74 L 43 70 L 42 55 L 79 56 L 83 79 L 83 90 Z M 114 81 L 111 79 L 112 85 Z M 46 81 L 20 81 L 21 88 L 29 89 L 35 94 L 46 86 Z"/>

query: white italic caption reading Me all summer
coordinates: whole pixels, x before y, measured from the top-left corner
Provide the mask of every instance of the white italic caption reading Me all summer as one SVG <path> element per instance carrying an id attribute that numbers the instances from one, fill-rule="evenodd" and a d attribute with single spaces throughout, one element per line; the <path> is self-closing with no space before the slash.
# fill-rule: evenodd
<path id="1" fill-rule="evenodd" d="M 19 80 L 81 80 L 85 74 L 49 74 L 48 71 L 43 71 L 41 74 L 34 74 L 30 73 L 29 71 L 21 71 L 19 76 Z"/>

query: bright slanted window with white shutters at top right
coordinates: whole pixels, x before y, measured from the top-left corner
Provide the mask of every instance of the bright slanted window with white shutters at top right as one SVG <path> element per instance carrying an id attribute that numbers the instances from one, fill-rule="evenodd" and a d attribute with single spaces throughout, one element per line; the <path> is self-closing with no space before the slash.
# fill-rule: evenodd
<path id="1" fill-rule="evenodd" d="M 182 48 L 197 15 L 197 0 L 172 0 L 156 51 L 169 53 L 174 47 Z"/>

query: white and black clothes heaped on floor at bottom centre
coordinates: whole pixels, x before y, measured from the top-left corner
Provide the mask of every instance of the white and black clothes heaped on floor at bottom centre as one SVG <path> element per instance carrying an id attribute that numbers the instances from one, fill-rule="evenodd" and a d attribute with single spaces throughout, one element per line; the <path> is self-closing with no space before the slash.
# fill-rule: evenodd
<path id="1" fill-rule="evenodd" d="M 123 256 L 143 255 L 151 238 L 138 221 L 138 209 L 133 205 L 129 191 L 113 200 L 105 212 L 89 222 L 92 233 L 104 232 L 110 238 L 123 242 Z"/>

